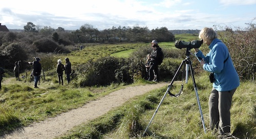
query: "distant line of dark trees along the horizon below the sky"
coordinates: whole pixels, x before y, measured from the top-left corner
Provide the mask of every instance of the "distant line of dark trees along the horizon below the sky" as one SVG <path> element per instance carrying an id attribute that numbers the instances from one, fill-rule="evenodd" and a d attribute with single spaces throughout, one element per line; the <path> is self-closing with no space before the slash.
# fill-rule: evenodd
<path id="1" fill-rule="evenodd" d="M 63 27 L 53 29 L 51 26 L 40 27 L 28 22 L 24 26 L 25 32 L 36 32 L 44 35 L 53 35 L 54 40 L 74 42 L 74 43 L 118 43 L 118 42 L 150 42 L 157 39 L 159 42 L 175 41 L 172 32 L 168 31 L 167 27 L 160 27 L 149 30 L 147 26 L 140 27 L 135 25 L 133 27 L 112 26 L 111 29 L 99 31 L 91 24 L 81 25 L 79 30 L 67 33 Z M 60 35 L 61 34 L 61 35 Z M 68 39 L 68 40 L 67 40 Z"/>

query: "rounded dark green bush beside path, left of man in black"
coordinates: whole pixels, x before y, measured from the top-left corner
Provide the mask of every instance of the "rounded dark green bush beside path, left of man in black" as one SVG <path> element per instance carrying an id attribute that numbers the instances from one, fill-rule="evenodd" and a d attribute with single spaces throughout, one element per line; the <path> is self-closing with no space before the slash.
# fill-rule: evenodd
<path id="1" fill-rule="evenodd" d="M 112 82 L 131 82 L 130 68 L 125 60 L 114 57 L 105 57 L 90 60 L 78 66 L 78 86 L 104 86 Z"/>

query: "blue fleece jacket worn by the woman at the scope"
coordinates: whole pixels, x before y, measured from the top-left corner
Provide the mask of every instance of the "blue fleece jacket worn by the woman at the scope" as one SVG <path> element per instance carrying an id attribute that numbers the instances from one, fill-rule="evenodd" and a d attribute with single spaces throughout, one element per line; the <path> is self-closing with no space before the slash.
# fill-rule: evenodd
<path id="1" fill-rule="evenodd" d="M 237 88 L 240 85 L 240 80 L 229 56 L 227 46 L 216 38 L 212 40 L 209 49 L 209 53 L 205 56 L 200 50 L 195 54 L 206 62 L 203 69 L 214 73 L 215 82 L 212 87 L 217 91 L 230 91 Z"/>

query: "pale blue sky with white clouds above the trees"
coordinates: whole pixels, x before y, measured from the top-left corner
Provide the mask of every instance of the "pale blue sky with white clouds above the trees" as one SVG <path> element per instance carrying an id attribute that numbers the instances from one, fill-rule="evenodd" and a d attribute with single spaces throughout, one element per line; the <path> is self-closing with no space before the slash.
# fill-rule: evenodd
<path id="1" fill-rule="evenodd" d="M 23 30 L 28 22 L 65 30 L 79 30 L 84 24 L 99 31 L 113 26 L 244 29 L 248 23 L 256 23 L 256 0 L 1 0 L 2 25 Z"/>

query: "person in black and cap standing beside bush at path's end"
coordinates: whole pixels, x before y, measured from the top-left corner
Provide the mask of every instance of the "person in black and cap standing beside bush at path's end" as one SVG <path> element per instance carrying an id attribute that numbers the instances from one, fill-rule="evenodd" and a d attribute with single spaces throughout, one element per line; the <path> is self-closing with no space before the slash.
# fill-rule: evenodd
<path id="1" fill-rule="evenodd" d="M 150 62 L 152 63 L 152 65 L 148 72 L 150 77 L 147 80 L 159 81 L 158 65 L 161 65 L 161 63 L 163 62 L 163 52 L 162 48 L 158 46 L 157 40 L 153 40 L 151 44 L 153 50 L 150 54 Z"/>

